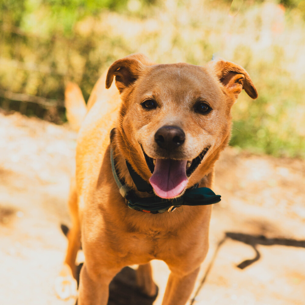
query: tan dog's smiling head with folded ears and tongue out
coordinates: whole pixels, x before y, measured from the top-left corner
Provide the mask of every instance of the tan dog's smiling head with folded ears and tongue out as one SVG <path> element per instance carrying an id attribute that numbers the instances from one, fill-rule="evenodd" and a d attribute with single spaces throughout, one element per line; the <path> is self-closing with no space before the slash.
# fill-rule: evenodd
<path id="1" fill-rule="evenodd" d="M 133 54 L 110 66 L 106 88 L 114 76 L 123 102 L 117 145 L 162 198 L 180 196 L 210 173 L 229 141 L 239 93 L 257 98 L 247 72 L 224 60 L 156 65 Z"/>

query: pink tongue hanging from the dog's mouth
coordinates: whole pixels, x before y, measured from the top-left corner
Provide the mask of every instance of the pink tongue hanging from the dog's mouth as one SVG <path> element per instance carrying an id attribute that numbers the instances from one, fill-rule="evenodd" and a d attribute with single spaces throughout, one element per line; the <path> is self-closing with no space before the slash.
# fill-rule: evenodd
<path id="1" fill-rule="evenodd" d="M 156 159 L 155 170 L 149 182 L 157 196 L 174 198 L 178 196 L 188 183 L 186 177 L 187 160 Z"/>

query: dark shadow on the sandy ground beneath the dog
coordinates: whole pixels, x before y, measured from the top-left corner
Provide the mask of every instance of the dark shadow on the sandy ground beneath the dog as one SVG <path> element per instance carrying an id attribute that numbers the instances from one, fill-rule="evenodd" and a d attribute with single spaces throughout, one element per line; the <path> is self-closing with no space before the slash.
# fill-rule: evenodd
<path id="1" fill-rule="evenodd" d="M 61 229 L 67 235 L 69 228 L 61 225 Z M 77 266 L 77 285 L 83 263 Z M 152 305 L 158 295 L 149 297 L 143 294 L 136 283 L 136 271 L 130 267 L 124 267 L 111 281 L 109 285 L 109 299 L 107 305 Z M 77 305 L 77 302 L 76 304 Z"/>

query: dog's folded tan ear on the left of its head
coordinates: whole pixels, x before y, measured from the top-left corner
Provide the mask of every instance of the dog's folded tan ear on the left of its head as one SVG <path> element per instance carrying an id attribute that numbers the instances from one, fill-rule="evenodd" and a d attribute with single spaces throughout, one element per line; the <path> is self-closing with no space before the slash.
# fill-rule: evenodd
<path id="1" fill-rule="evenodd" d="M 108 70 L 106 77 L 106 88 L 110 88 L 113 77 L 120 93 L 133 84 L 144 70 L 145 66 L 151 66 L 153 63 L 141 53 L 131 54 L 115 61 Z"/>

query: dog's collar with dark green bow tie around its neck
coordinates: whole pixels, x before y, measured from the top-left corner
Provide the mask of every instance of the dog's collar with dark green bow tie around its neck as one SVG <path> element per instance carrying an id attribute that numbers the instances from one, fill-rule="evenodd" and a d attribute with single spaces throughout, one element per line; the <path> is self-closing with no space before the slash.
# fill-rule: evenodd
<path id="1" fill-rule="evenodd" d="M 172 212 L 176 207 L 182 205 L 203 206 L 221 201 L 220 195 L 216 195 L 210 188 L 198 188 L 198 184 L 187 189 L 182 196 L 174 199 L 163 199 L 158 196 L 140 198 L 128 185 L 126 185 L 124 179 L 119 178 L 113 159 L 112 145 L 110 145 L 110 147 L 111 169 L 114 180 L 117 183 L 120 194 L 126 199 L 127 206 L 133 210 L 157 214 L 164 213 L 165 211 Z M 134 180 L 134 182 L 135 180 L 137 182 L 137 188 L 140 188 L 139 190 L 141 192 L 152 191 L 152 187 L 149 187 L 149 184 L 133 170 L 127 161 L 126 164 L 129 172 L 131 173 L 131 178 Z"/>

